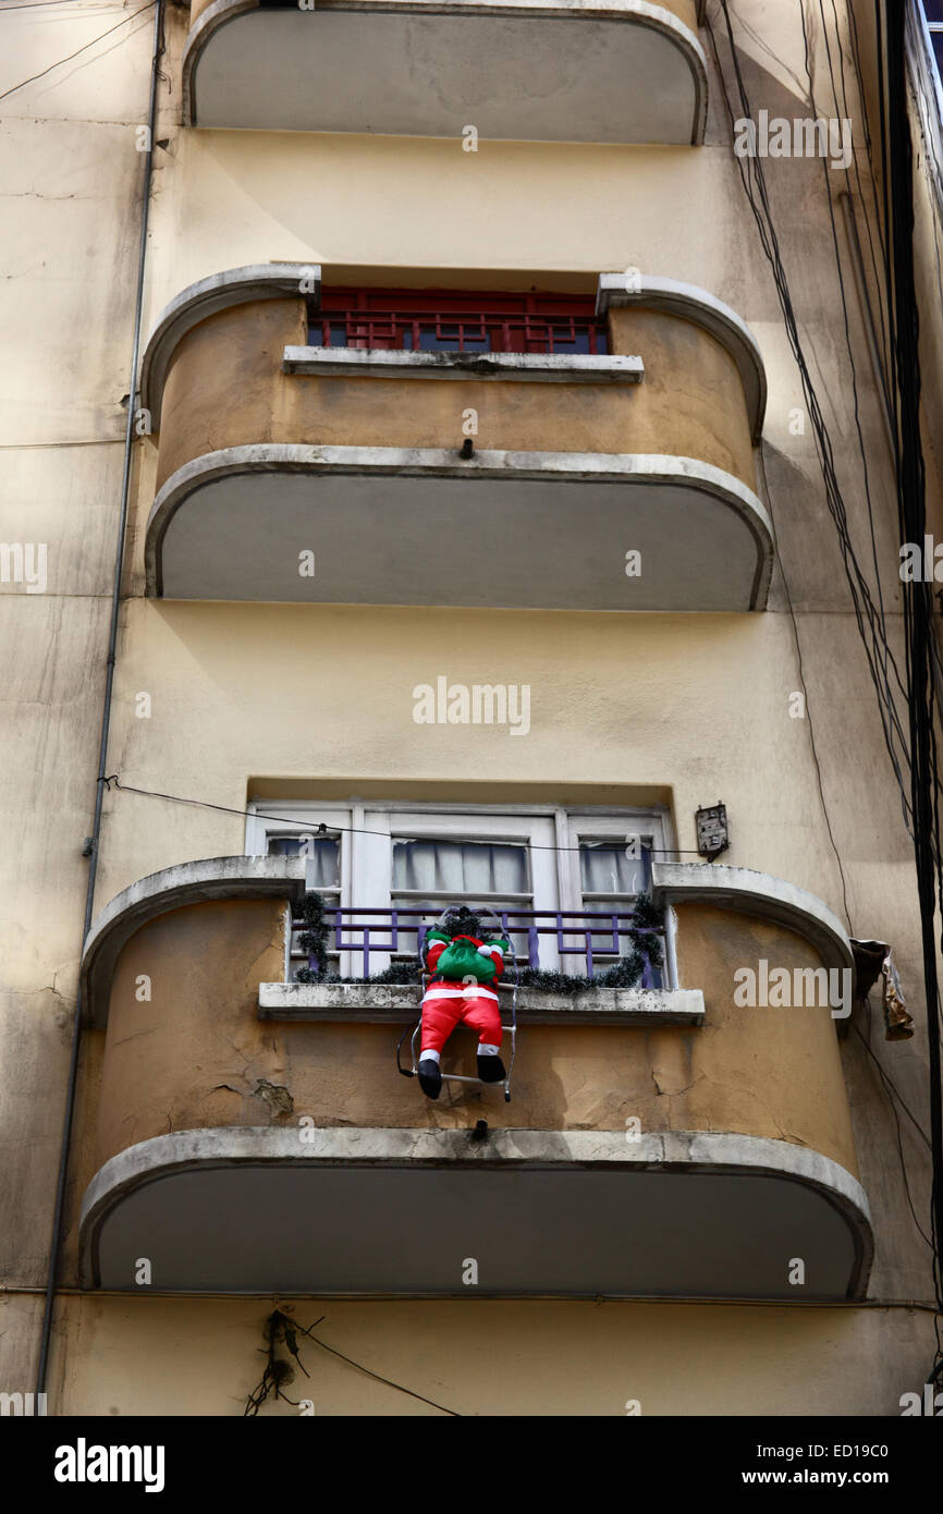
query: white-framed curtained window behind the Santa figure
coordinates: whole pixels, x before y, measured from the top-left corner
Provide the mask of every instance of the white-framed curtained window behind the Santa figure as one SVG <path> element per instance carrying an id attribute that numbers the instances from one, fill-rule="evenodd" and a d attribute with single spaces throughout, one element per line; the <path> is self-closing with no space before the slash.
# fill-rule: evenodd
<path id="1" fill-rule="evenodd" d="M 312 886 L 333 905 L 331 958 L 342 977 L 415 960 L 419 934 L 460 902 L 498 914 L 519 963 L 592 975 L 627 949 L 652 854 L 668 846 L 663 810 L 266 799 L 251 807 L 247 828 L 250 854 L 306 858 Z M 297 970 L 297 931 L 292 949 Z"/>

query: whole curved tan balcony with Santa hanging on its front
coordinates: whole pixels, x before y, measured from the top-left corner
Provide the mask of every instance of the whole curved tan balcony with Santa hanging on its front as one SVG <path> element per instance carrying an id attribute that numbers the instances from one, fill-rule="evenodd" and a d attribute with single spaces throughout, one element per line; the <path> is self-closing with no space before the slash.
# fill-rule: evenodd
<path id="1" fill-rule="evenodd" d="M 138 1291 L 147 1257 L 170 1291 L 466 1296 L 474 1257 L 490 1296 L 787 1301 L 801 1257 L 804 1301 L 861 1297 L 833 1013 L 733 998 L 757 958 L 849 969 L 840 924 L 743 869 L 655 864 L 652 884 L 683 987 L 528 990 L 507 1111 L 490 1090 L 430 1105 L 397 1076 L 416 989 L 291 981 L 301 860 L 210 858 L 118 895 L 83 960 L 103 1039 L 85 1285 Z M 569 916 L 509 916 L 586 951 Z M 363 951 L 363 922 L 331 924 Z M 409 955 L 392 927 L 375 949 Z"/>

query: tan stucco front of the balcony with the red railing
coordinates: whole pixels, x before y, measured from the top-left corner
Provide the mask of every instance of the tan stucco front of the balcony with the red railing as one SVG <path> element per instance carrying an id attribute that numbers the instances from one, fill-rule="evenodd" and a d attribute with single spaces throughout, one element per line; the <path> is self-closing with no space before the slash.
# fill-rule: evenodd
<path id="1" fill-rule="evenodd" d="M 285 374 L 307 342 L 304 300 L 260 300 L 209 316 L 180 341 L 160 412 L 156 486 L 206 453 L 251 442 L 454 448 L 463 412 L 477 447 L 695 457 L 757 488 L 737 365 L 693 321 L 613 310 L 612 351 L 640 356 L 640 385 Z"/>

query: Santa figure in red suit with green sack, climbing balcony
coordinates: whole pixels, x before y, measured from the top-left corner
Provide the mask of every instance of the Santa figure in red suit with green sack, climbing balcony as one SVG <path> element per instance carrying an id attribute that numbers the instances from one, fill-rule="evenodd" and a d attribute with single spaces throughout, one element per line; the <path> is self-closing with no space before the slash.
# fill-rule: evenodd
<path id="1" fill-rule="evenodd" d="M 442 1089 L 439 1058 L 456 1025 L 478 1033 L 478 1076 L 503 1083 L 501 1008 L 496 983 L 504 972 L 510 942 L 504 936 L 478 939 L 478 921 L 471 911 L 450 914 L 425 937 L 425 966 L 433 974 L 422 998 L 419 1087 L 430 1099 Z M 474 933 L 474 934 L 472 934 Z"/>

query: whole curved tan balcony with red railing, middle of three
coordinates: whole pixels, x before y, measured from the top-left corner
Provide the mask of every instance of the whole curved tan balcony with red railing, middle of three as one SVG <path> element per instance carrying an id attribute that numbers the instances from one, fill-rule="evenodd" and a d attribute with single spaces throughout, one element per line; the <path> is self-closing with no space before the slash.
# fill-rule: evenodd
<path id="1" fill-rule="evenodd" d="M 595 300 L 471 298 L 391 309 L 389 291 L 321 289 L 291 263 L 177 297 L 141 372 L 159 433 L 147 592 L 763 609 L 766 382 L 743 321 L 625 274 Z M 483 540 L 501 544 L 487 572 Z"/>

